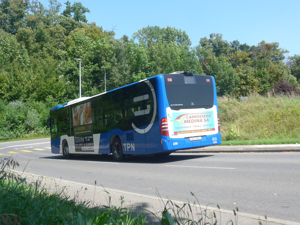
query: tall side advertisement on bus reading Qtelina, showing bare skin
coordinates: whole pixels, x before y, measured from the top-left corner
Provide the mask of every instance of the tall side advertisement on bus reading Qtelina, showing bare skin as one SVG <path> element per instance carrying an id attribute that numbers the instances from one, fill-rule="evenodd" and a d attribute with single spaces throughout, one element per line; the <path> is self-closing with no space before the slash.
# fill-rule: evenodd
<path id="1" fill-rule="evenodd" d="M 91 102 L 72 107 L 76 152 L 94 152 Z"/>

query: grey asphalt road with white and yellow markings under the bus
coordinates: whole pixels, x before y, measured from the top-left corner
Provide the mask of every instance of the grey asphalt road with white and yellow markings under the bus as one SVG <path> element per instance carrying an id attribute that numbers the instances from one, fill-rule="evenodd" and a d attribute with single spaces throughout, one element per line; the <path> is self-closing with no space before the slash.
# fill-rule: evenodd
<path id="1" fill-rule="evenodd" d="M 0 154 L 28 173 L 179 201 L 195 201 L 192 192 L 200 205 L 300 222 L 299 152 L 172 153 L 117 163 L 111 155 L 65 160 L 40 139 L 0 143 Z"/>

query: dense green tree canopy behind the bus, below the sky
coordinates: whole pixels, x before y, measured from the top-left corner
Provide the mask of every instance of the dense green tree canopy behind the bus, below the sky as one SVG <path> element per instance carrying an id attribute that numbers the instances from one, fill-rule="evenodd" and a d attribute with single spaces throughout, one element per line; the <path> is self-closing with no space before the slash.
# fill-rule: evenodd
<path id="1" fill-rule="evenodd" d="M 223 40 L 212 33 L 191 47 L 185 31 L 167 26 L 147 26 L 129 39 L 114 37 L 85 14 L 80 2 L 71 5 L 49 0 L 1 0 L 0 96 L 5 101 L 31 98 L 57 102 L 77 98 L 78 62 L 81 58 L 82 94 L 113 89 L 160 73 L 190 71 L 214 76 L 218 95 L 244 96 L 266 93 L 280 82 L 299 89 L 300 56 L 285 58 L 278 42 L 256 46 Z M 18 91 L 16 91 L 18 90 Z"/>

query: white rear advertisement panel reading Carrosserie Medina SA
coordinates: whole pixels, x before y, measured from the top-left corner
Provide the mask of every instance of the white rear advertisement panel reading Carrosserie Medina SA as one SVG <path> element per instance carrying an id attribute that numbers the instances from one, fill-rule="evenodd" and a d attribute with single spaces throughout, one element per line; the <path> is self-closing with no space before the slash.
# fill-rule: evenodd
<path id="1" fill-rule="evenodd" d="M 216 110 L 167 110 L 170 136 L 193 137 L 195 135 L 216 134 Z"/>

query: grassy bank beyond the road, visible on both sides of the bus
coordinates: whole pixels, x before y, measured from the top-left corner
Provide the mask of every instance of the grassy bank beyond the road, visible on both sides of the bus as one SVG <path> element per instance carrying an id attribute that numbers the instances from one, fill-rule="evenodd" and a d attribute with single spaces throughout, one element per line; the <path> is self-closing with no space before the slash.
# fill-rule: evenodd
<path id="1" fill-rule="evenodd" d="M 299 97 L 253 94 L 247 101 L 218 97 L 218 104 L 222 145 L 300 143 Z M 45 137 L 49 136 L 30 134 L 6 141 Z"/>

